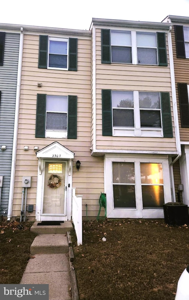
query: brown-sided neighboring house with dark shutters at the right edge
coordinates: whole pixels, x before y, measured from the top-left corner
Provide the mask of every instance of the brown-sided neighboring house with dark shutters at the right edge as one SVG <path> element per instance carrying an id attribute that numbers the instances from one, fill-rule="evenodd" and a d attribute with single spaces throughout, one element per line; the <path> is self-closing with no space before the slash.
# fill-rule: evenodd
<path id="1" fill-rule="evenodd" d="M 175 186 L 183 185 L 178 195 L 189 205 L 189 17 L 169 15 L 162 22 L 173 24 L 171 35 L 181 143 L 177 164 L 180 174 L 174 172 Z"/>

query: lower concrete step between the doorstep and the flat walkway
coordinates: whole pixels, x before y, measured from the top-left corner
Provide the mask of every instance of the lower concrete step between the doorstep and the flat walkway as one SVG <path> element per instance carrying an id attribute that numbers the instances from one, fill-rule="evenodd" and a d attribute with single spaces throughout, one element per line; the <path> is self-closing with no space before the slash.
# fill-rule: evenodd
<path id="1" fill-rule="evenodd" d="M 65 234 L 40 234 L 35 237 L 31 254 L 68 253 L 68 238 Z"/>

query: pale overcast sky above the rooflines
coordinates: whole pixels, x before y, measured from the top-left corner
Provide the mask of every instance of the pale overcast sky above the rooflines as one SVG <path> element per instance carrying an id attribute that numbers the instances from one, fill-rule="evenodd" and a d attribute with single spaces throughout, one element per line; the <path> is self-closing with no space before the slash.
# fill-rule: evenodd
<path id="1" fill-rule="evenodd" d="M 161 22 L 189 16 L 189 0 L 1 0 L 1 23 L 89 29 L 92 18 Z"/>

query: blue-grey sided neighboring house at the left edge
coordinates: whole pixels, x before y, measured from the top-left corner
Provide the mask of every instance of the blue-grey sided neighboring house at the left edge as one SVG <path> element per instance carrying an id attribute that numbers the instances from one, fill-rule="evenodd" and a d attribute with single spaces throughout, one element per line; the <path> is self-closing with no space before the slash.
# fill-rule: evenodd
<path id="1" fill-rule="evenodd" d="M 19 107 L 19 47 L 21 28 L 0 24 L 0 216 L 8 213 L 11 173 L 15 162 L 15 146 Z M 16 111 L 16 113 L 15 113 Z"/>

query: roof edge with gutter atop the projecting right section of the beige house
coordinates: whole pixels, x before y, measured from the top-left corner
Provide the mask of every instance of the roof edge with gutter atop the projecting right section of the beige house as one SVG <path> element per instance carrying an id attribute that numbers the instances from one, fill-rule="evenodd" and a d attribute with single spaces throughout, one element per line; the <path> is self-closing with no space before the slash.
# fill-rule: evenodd
<path id="1" fill-rule="evenodd" d="M 161 23 L 161 22 L 143 22 L 143 21 L 128 21 L 128 20 L 115 20 L 115 19 L 92 19 L 92 25 L 100 26 L 123 26 L 123 27 L 133 27 L 133 28 L 150 28 L 150 29 L 164 29 L 169 30 L 171 23 Z M 91 29 L 91 27 L 90 27 Z"/>

